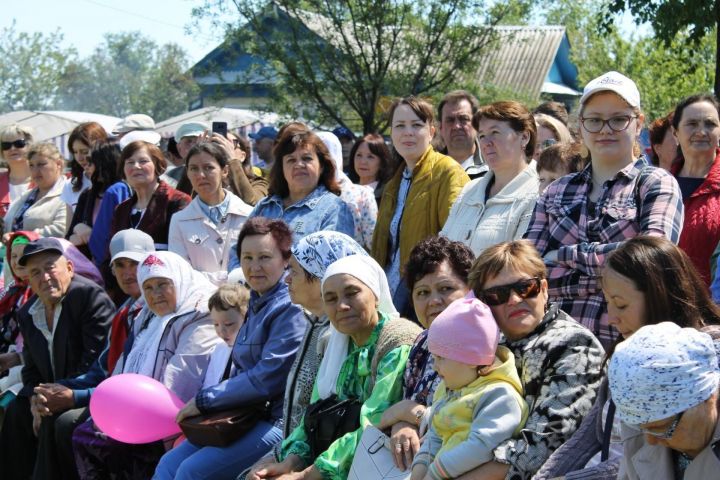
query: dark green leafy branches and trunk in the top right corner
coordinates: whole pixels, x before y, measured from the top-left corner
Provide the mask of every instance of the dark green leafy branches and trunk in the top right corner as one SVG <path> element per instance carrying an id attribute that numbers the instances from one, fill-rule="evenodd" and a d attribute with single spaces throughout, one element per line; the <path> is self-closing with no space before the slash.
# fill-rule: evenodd
<path id="1" fill-rule="evenodd" d="M 609 0 L 607 11 L 629 9 L 641 22 L 649 22 L 655 36 L 666 47 L 681 39 L 685 45 L 698 48 L 706 36 L 714 33 L 714 91 L 720 96 L 720 0 Z M 609 23 L 603 21 L 603 26 Z M 693 49 L 688 49 L 691 54 Z"/>

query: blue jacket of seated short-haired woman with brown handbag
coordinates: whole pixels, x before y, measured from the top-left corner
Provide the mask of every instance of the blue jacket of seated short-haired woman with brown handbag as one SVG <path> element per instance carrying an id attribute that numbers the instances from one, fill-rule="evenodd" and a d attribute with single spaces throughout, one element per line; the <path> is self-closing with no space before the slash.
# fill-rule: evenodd
<path id="1" fill-rule="evenodd" d="M 306 328 L 305 315 L 290 302 L 285 282 L 263 295 L 251 292 L 232 351 L 235 375 L 200 390 L 195 397 L 198 409 L 219 412 L 269 399 L 272 419 L 282 418 L 288 372 Z"/>

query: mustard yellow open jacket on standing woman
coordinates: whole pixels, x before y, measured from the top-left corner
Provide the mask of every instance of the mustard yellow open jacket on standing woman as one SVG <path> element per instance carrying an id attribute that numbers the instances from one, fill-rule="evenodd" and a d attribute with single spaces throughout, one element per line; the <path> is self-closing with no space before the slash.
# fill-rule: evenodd
<path id="1" fill-rule="evenodd" d="M 372 240 L 372 256 L 383 267 L 390 263 L 390 222 L 397 205 L 404 166 L 385 185 Z M 412 172 L 412 183 L 400 221 L 400 265 L 421 240 L 437 235 L 450 215 L 455 198 L 470 181 L 459 163 L 428 147 Z"/>

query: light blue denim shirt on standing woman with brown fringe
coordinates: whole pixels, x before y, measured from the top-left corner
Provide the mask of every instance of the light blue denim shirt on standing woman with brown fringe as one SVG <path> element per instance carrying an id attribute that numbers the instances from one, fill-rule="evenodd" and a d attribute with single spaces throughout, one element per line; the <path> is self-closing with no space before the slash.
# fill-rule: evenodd
<path id="1" fill-rule="evenodd" d="M 283 199 L 279 195 L 268 195 L 260 200 L 250 217 L 279 218 L 290 226 L 293 232 L 293 244 L 310 233 L 320 230 L 335 230 L 354 238 L 355 221 L 350 207 L 340 197 L 318 185 L 310 195 L 289 207 L 283 207 Z M 237 257 L 237 246 L 230 250 L 228 271 L 240 267 Z"/>

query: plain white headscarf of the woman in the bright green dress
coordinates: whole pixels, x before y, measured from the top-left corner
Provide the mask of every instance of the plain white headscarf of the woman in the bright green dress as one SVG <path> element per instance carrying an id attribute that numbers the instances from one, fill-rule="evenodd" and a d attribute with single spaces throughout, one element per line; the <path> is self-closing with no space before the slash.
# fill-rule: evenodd
<path id="1" fill-rule="evenodd" d="M 390 295 L 390 287 L 387 283 L 387 277 L 382 267 L 370 256 L 351 255 L 341 258 L 337 262 L 330 265 L 325 271 L 322 279 L 321 288 L 325 285 L 325 281 L 339 274 L 348 274 L 364 283 L 378 299 L 378 310 L 388 315 L 390 318 L 398 318 L 400 314 L 392 303 L 392 295 Z M 338 332 L 335 327 L 330 325 L 330 340 L 325 350 L 325 356 L 320 363 L 318 371 L 318 394 L 321 399 L 337 393 L 337 379 L 340 374 L 345 357 L 348 353 L 349 337 Z"/>

